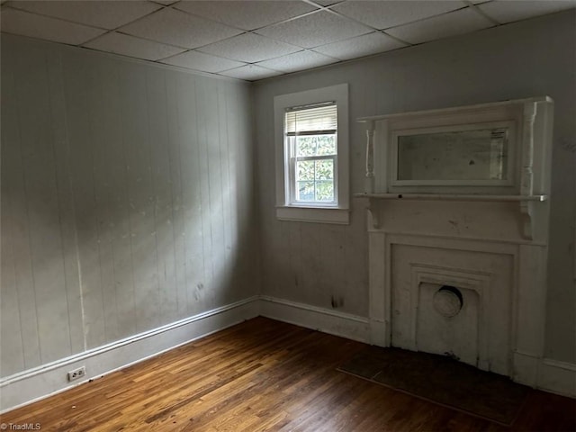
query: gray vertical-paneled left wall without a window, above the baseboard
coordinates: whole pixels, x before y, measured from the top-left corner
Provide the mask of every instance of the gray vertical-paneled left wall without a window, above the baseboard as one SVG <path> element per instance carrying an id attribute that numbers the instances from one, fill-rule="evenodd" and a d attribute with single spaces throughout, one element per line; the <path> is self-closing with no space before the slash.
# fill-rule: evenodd
<path id="1" fill-rule="evenodd" d="M 258 293 L 250 106 L 2 35 L 1 376 Z"/>

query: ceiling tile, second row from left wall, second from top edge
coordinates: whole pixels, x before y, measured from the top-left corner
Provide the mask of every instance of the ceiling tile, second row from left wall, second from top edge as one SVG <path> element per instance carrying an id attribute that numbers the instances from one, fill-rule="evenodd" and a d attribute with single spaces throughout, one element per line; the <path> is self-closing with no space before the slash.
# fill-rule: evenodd
<path id="1" fill-rule="evenodd" d="M 202 47 L 242 32 L 171 8 L 148 15 L 119 30 L 133 36 L 185 48 Z"/>

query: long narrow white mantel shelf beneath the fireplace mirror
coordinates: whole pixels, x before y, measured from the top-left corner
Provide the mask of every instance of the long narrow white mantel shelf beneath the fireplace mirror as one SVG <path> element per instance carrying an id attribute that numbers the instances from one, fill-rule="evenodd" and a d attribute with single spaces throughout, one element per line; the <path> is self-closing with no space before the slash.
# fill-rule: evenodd
<path id="1" fill-rule="evenodd" d="M 356 198 L 419 201 L 544 202 L 548 195 L 492 195 L 480 193 L 355 193 Z"/>

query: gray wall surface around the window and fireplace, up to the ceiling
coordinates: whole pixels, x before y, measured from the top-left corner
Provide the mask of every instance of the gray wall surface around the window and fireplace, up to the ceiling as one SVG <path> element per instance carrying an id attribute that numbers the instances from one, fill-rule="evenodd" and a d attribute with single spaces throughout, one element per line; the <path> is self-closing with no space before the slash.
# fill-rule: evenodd
<path id="1" fill-rule="evenodd" d="M 357 117 L 549 95 L 555 101 L 546 356 L 576 363 L 576 12 L 514 23 L 257 83 L 263 293 L 367 316 L 365 202 L 351 224 L 275 219 L 276 94 L 348 83 L 351 191 L 364 190 L 365 132 Z"/>

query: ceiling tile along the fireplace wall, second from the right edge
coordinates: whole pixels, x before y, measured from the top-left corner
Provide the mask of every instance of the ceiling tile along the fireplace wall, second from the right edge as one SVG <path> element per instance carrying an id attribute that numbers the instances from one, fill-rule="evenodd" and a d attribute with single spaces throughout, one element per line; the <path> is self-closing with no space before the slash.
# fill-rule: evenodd
<path id="1" fill-rule="evenodd" d="M 386 32 L 410 43 L 421 43 L 455 36 L 493 26 L 487 18 L 471 8 L 449 14 L 438 15 L 427 20 L 418 21 L 388 29 Z"/>

